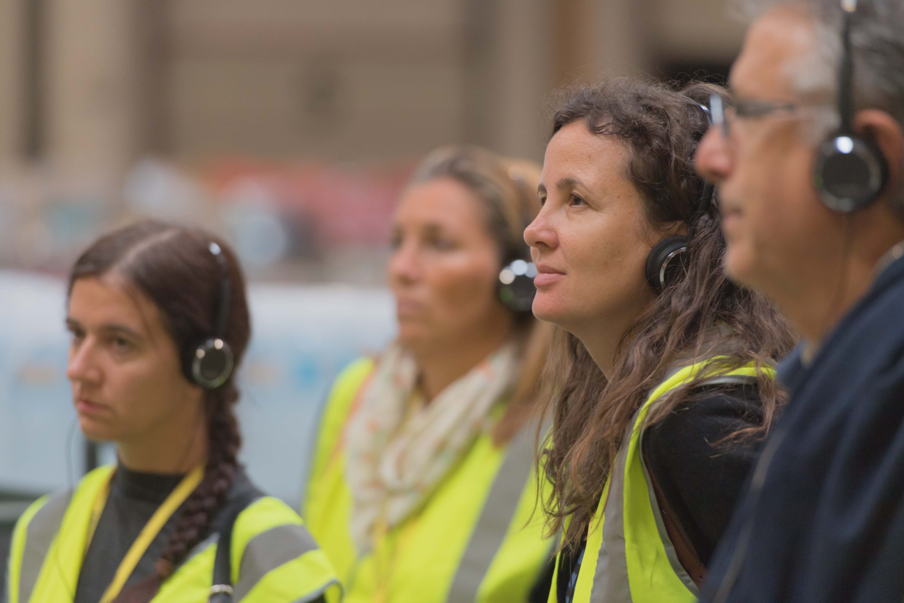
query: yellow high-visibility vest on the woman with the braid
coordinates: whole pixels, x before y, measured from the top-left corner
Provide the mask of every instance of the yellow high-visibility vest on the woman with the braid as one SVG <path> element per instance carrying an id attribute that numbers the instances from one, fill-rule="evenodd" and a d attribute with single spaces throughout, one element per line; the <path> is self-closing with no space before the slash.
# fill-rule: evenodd
<path id="1" fill-rule="evenodd" d="M 9 563 L 9 603 L 71 601 L 78 585 L 90 506 L 112 467 L 85 476 L 74 493 L 33 505 L 16 523 Z M 155 603 L 195 603 L 210 595 L 217 534 L 196 545 L 165 580 Z M 297 513 L 270 496 L 244 509 L 232 532 L 232 583 L 236 603 L 339 598 L 335 573 Z M 16 576 L 16 579 L 12 579 Z"/>

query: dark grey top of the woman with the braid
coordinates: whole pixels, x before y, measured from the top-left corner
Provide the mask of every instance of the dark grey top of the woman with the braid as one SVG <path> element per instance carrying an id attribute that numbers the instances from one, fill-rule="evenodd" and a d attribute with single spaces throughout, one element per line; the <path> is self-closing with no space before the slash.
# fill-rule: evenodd
<path id="1" fill-rule="evenodd" d="M 135 542 L 151 515 L 183 477 L 174 474 L 140 473 L 121 465 L 117 467 L 110 483 L 107 504 L 100 515 L 100 521 L 81 567 L 74 603 L 97 603 L 100 600 L 104 590 L 113 581 L 119 563 L 126 556 L 132 542 Z M 240 496 L 253 495 L 253 491 L 256 491 L 255 486 L 251 484 L 245 472 L 239 469 L 227 495 L 227 503 Z M 261 495 L 259 492 L 257 494 Z M 147 551 L 127 579 L 127 586 L 146 578 L 154 571 L 155 561 L 160 558 L 180 514 L 174 513 L 147 547 Z M 217 520 L 219 519 L 218 516 Z M 219 529 L 217 520 L 209 524 L 204 538 Z"/>

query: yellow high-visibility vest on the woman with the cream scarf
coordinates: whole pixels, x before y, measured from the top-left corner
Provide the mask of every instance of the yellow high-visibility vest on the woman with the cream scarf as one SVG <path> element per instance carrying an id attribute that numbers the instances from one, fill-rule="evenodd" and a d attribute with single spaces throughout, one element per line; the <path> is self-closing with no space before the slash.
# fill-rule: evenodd
<path id="1" fill-rule="evenodd" d="M 373 362 L 363 359 L 336 380 L 303 504 L 307 526 L 343 582 L 344 601 L 526 601 L 552 550 L 537 505 L 530 427 L 502 447 L 489 433 L 478 437 L 417 513 L 384 532 L 371 551 L 356 550 L 342 434 L 372 371 Z"/>

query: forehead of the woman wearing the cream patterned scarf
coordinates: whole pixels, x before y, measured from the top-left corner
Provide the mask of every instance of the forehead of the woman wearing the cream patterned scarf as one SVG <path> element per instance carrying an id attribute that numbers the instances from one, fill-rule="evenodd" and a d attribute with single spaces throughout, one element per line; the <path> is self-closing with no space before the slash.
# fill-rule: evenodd
<path id="1" fill-rule="evenodd" d="M 473 231 L 483 225 L 482 202 L 465 184 L 439 177 L 412 184 L 396 207 L 396 226 L 435 225 Z"/>

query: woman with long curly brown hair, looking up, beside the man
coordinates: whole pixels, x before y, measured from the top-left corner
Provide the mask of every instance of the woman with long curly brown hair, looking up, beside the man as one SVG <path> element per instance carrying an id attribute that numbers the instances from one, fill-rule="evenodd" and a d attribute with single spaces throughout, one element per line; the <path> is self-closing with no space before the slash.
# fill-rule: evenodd
<path id="1" fill-rule="evenodd" d="M 793 337 L 722 272 L 725 241 L 692 158 L 717 87 L 637 79 L 557 111 L 527 228 L 534 315 L 560 326 L 541 466 L 563 544 L 560 603 L 695 600 L 776 416 Z"/>

